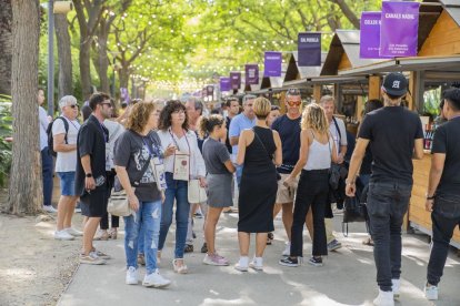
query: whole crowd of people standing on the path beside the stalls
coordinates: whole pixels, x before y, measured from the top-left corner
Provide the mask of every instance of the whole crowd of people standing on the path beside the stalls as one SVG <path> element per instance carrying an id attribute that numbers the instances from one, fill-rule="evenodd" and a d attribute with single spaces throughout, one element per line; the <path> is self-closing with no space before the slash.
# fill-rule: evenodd
<path id="1" fill-rule="evenodd" d="M 81 124 L 77 99 L 63 96 L 59 101 L 61 115 L 53 121 L 40 106 L 43 210 L 54 212 L 56 152 L 61 196 L 54 238 L 82 236 L 80 263 L 104 264 L 110 255 L 96 249 L 93 239 L 117 238 L 119 217 L 111 216 L 109 231 L 107 205 L 112 190 L 123 188 L 132 211 L 123 217 L 126 283 L 139 283 L 138 267 L 143 264 L 142 284 L 166 287 L 171 282 L 160 275 L 158 265 L 174 215 L 172 268 L 178 274 L 189 272 L 184 253 L 193 252 L 198 208 L 204 215 L 203 264 L 229 265 L 217 251 L 216 227 L 221 214 L 233 206 L 236 190 L 240 253 L 236 269 L 263 269 L 263 253 L 280 212 L 288 242 L 279 264 L 302 264 L 306 224 L 312 239 L 308 263 L 322 266 L 323 256 L 341 247 L 333 236 L 333 212 L 346 195 L 356 195 L 359 182 L 369 185 L 368 243 L 374 245 L 379 286 L 374 304 L 393 305 L 400 294 L 401 226 L 412 190 L 412 159 L 423 156 L 420 118 L 401 106 L 407 88 L 400 73 L 384 79 L 383 102 L 368 101 L 351 159 L 347 154 L 350 133 L 334 116 L 336 103 L 330 95 L 302 108 L 300 91 L 290 89 L 283 115 L 268 99 L 248 94 L 241 105 L 238 99 L 229 99 L 224 110 L 209 115 L 203 113 L 203 103 L 191 98 L 187 103 L 168 101 L 161 105 L 136 101 L 118 116 L 114 101 L 94 93 L 82 108 Z M 43 100 L 39 91 L 39 103 Z M 448 245 L 460 224 L 460 163 L 452 157 L 460 154 L 460 90 L 448 90 L 443 102 L 448 122 L 436 132 L 427 191 L 427 210 L 433 220 L 424 287 L 429 299 L 438 298 Z M 331 191 L 331 173 L 343 176 L 343 171 L 348 176 Z M 77 201 L 84 216 L 83 232 L 71 225 Z M 98 226 L 101 232 L 96 235 Z M 251 259 L 250 234 L 256 234 Z"/>

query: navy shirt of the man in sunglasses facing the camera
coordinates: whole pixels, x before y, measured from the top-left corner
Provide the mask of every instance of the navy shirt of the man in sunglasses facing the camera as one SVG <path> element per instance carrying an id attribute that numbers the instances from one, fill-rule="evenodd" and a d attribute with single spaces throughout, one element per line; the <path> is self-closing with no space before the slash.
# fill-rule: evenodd
<path id="1" fill-rule="evenodd" d="M 299 161 L 301 119 L 302 116 L 292 120 L 282 115 L 271 125 L 271 129 L 280 134 L 282 143 L 282 164 L 278 169 L 279 173 L 291 173 Z"/>

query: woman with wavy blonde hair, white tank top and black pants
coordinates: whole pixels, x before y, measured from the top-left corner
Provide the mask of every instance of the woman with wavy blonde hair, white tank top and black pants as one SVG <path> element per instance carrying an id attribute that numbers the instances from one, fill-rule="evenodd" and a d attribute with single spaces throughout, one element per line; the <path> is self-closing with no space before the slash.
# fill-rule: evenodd
<path id="1" fill-rule="evenodd" d="M 292 185 L 296 176 L 300 181 L 296 194 L 293 223 L 291 230 L 290 256 L 280 259 L 280 265 L 296 267 L 302 261 L 302 231 L 307 213 L 313 213 L 313 251 L 309 264 L 322 266 L 323 255 L 328 255 L 326 241 L 324 211 L 328 204 L 329 172 L 331 162 L 337 161 L 337 151 L 329 132 L 324 110 L 313 103 L 302 113 L 300 133 L 300 155 L 292 173 L 284 181 Z"/>

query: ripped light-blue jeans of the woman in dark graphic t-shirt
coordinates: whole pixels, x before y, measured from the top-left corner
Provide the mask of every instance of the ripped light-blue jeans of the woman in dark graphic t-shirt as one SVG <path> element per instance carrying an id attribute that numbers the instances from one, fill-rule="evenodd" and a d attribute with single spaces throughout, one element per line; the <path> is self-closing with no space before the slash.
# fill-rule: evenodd
<path id="1" fill-rule="evenodd" d="M 161 223 L 161 201 L 139 201 L 139 211 L 124 217 L 127 267 L 138 268 L 138 241 L 142 226 L 147 274 L 157 269 L 157 249 Z"/>

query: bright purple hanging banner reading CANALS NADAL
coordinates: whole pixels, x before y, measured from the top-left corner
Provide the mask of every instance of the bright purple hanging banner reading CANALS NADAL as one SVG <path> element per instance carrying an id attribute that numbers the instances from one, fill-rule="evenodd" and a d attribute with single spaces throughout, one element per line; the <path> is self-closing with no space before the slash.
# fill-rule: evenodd
<path id="1" fill-rule="evenodd" d="M 419 2 L 382 2 L 381 57 L 416 57 L 419 34 Z"/>

